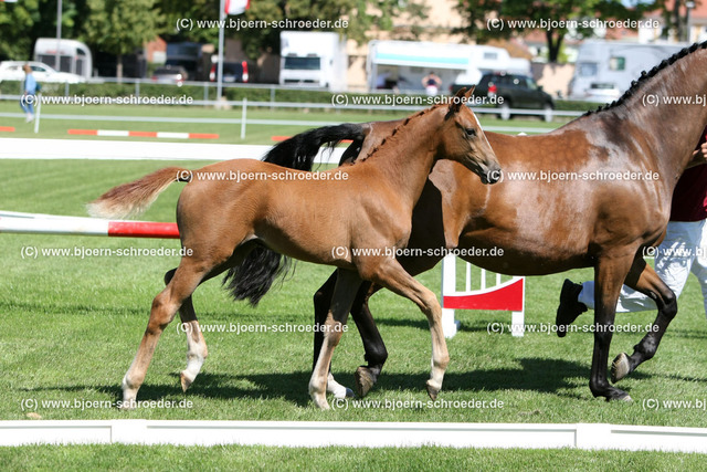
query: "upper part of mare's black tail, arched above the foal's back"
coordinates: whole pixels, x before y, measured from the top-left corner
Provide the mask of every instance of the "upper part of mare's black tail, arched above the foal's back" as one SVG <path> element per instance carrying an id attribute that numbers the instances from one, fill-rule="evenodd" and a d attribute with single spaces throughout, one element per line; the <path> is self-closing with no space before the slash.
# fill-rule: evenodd
<path id="1" fill-rule="evenodd" d="M 363 125 L 354 123 L 309 129 L 274 146 L 263 161 L 291 169 L 312 170 L 314 158 L 323 145 L 334 149 L 344 139 L 362 143 L 365 138 Z"/>

